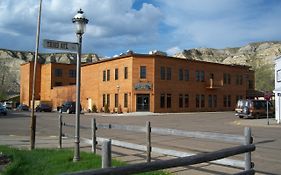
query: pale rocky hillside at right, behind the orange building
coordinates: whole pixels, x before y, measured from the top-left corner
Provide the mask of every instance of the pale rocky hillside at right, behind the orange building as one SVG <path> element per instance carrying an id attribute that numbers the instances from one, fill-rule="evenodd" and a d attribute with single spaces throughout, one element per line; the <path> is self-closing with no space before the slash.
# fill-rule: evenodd
<path id="1" fill-rule="evenodd" d="M 281 42 L 250 43 L 243 47 L 212 49 L 195 48 L 183 50 L 175 57 L 223 64 L 248 65 L 256 71 L 256 89 L 274 89 L 274 59 L 281 55 Z"/>

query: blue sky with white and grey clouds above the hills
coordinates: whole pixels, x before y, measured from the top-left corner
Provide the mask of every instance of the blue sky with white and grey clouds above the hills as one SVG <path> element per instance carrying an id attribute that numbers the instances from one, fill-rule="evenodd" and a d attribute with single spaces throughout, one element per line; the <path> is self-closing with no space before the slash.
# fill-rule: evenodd
<path id="1" fill-rule="evenodd" d="M 43 39 L 76 42 L 72 18 L 89 20 L 83 53 L 240 47 L 281 41 L 280 0 L 42 0 Z M 0 0 L 0 48 L 34 51 L 39 0 Z"/>

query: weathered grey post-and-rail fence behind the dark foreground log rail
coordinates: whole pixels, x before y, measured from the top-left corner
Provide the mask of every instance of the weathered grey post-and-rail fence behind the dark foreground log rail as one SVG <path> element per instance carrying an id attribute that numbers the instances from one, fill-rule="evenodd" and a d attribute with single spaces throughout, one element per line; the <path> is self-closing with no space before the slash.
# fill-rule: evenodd
<path id="1" fill-rule="evenodd" d="M 74 125 L 64 123 L 62 121 L 62 115 L 60 115 L 59 116 L 59 148 L 62 148 L 62 135 L 66 135 L 68 137 L 73 137 L 71 135 L 62 134 L 63 126 L 74 127 Z M 91 127 L 80 126 L 80 128 L 81 129 L 91 129 L 92 138 L 91 139 L 81 138 L 81 141 L 92 145 L 92 152 L 94 152 L 94 153 L 96 153 L 97 144 L 102 145 L 104 141 L 108 140 L 106 138 L 97 137 L 98 129 L 112 129 L 112 130 L 116 129 L 116 130 L 130 131 L 130 132 L 146 133 L 146 145 L 139 145 L 139 144 L 135 144 L 135 143 L 129 143 L 129 142 L 124 142 L 124 141 L 119 141 L 119 140 L 114 140 L 114 139 L 111 139 L 110 143 L 112 145 L 119 146 L 119 147 L 146 151 L 147 163 L 151 162 L 151 152 L 160 153 L 160 154 L 164 154 L 164 155 L 170 155 L 170 156 L 176 156 L 179 158 L 187 158 L 187 157 L 196 156 L 194 153 L 152 147 L 151 146 L 151 134 L 208 139 L 208 140 L 222 141 L 222 142 L 227 142 L 227 143 L 239 143 L 241 145 L 238 147 L 235 147 L 235 149 L 238 149 L 238 150 L 245 148 L 245 146 L 252 145 L 252 143 L 253 143 L 251 129 L 247 128 L 247 127 L 244 129 L 244 136 L 240 136 L 240 135 L 211 133 L 211 132 L 194 132 L 194 131 L 183 131 L 183 130 L 176 130 L 176 129 L 156 128 L 156 127 L 152 128 L 150 122 L 146 122 L 145 127 L 134 126 L 134 125 L 119 125 L 119 124 L 97 124 L 96 119 L 93 118 Z M 255 146 L 253 145 L 253 147 L 255 147 Z M 251 149 L 251 151 L 253 151 L 253 150 Z M 254 164 L 251 162 L 251 151 L 248 150 L 248 151 L 243 152 L 243 153 L 245 153 L 244 161 L 227 159 L 226 157 L 229 157 L 229 156 L 221 157 L 218 159 L 212 159 L 209 161 L 216 163 L 216 164 L 244 168 L 245 171 L 252 172 L 252 168 L 253 168 Z M 236 155 L 236 154 L 234 154 L 234 155 Z M 230 155 L 230 156 L 232 156 L 232 155 Z M 181 160 L 181 159 L 178 159 L 178 160 Z M 151 163 L 154 163 L 154 162 L 151 162 Z M 185 165 L 189 165 L 189 163 L 187 163 Z"/>

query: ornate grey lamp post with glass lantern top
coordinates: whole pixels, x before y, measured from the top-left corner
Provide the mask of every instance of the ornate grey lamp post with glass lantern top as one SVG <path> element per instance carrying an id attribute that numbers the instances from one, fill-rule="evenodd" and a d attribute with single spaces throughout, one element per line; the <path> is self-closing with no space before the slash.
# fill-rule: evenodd
<path id="1" fill-rule="evenodd" d="M 82 35 L 85 32 L 86 24 L 88 19 L 85 18 L 84 12 L 80 9 L 77 14 L 72 18 L 72 22 L 76 25 L 76 36 L 78 40 L 77 49 L 77 64 L 76 64 L 76 107 L 75 107 L 75 147 L 73 161 L 80 160 L 80 81 L 81 81 L 81 46 L 82 46 Z"/>

